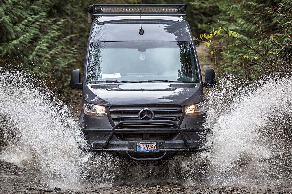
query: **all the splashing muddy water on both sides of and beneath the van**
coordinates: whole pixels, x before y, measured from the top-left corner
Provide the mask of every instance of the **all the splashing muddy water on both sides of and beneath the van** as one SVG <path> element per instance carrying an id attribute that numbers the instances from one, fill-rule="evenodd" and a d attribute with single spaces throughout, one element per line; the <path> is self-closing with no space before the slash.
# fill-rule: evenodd
<path id="1" fill-rule="evenodd" d="M 121 161 L 83 152 L 71 113 L 26 74 L 0 77 L 0 159 L 17 164 L 50 187 L 174 182 L 183 185 L 281 186 L 291 183 L 292 79 L 257 83 L 220 78 L 207 91 L 210 152 L 170 161 Z M 290 167 L 290 168 L 289 168 Z"/>

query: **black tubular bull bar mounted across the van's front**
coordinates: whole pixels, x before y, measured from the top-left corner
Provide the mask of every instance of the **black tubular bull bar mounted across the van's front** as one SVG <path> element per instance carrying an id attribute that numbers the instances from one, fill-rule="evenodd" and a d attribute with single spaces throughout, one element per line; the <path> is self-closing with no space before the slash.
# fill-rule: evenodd
<path id="1" fill-rule="evenodd" d="M 176 128 L 138 128 L 138 129 L 117 129 L 119 125 L 121 124 L 155 124 L 155 123 L 171 123 Z M 142 120 L 124 120 L 120 121 L 112 129 L 82 129 L 84 132 L 108 132 L 109 137 L 105 141 L 105 144 L 103 145 L 102 149 L 87 149 L 88 152 L 126 152 L 127 156 L 130 159 L 136 160 L 136 161 L 153 161 L 153 160 L 160 160 L 162 159 L 167 152 L 202 152 L 206 149 L 203 148 L 196 148 L 192 149 L 190 147 L 190 144 L 187 142 L 187 139 L 185 137 L 185 134 L 183 132 L 211 132 L 211 129 L 202 129 L 202 128 L 180 128 L 180 126 L 172 121 L 172 120 L 149 120 L 149 121 L 142 121 Z M 185 148 L 171 148 L 171 149 L 159 149 L 159 152 L 164 152 L 164 154 L 157 158 L 135 158 L 131 156 L 129 152 L 135 152 L 134 149 L 107 149 L 107 145 L 109 144 L 109 141 L 112 139 L 112 136 L 114 133 L 120 133 L 120 132 L 179 132 L 180 136 L 183 139 L 183 142 L 185 144 Z"/>

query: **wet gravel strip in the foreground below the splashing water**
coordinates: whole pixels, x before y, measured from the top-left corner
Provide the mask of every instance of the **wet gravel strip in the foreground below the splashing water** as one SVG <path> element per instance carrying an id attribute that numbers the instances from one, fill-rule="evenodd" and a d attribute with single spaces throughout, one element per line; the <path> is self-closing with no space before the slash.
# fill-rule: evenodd
<path id="1" fill-rule="evenodd" d="M 68 190 L 59 187 L 50 188 L 48 185 L 37 181 L 37 178 L 27 172 L 24 168 L 17 165 L 0 161 L 0 193 L 149 193 L 149 194 L 166 194 L 166 193 L 228 193 L 228 194 L 240 194 L 240 193 L 279 193 L 279 194 L 291 194 L 292 187 L 291 182 L 287 180 L 286 187 L 266 187 L 266 188 L 248 188 L 237 186 L 183 186 L 174 183 L 160 183 L 160 184 L 142 184 L 142 185 L 128 185 L 122 184 L 113 186 L 110 188 L 103 187 L 84 187 L 78 190 Z"/>

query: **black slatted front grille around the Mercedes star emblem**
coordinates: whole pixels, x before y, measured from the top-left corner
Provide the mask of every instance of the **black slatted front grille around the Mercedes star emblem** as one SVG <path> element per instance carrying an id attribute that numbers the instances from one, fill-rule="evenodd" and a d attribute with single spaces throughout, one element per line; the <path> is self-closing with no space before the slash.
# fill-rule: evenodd
<path id="1" fill-rule="evenodd" d="M 119 125 L 120 129 L 133 129 L 133 128 L 174 128 L 175 126 L 171 123 L 159 123 L 159 120 L 171 120 L 176 123 L 179 122 L 183 113 L 183 108 L 179 105 L 124 105 L 124 106 L 111 106 L 109 108 L 110 116 L 117 124 L 123 120 L 140 120 L 139 112 L 142 109 L 150 109 L 154 113 L 153 120 L 157 123 L 143 124 L 143 123 L 125 123 Z M 141 120 L 151 120 L 148 118 L 142 118 Z"/>

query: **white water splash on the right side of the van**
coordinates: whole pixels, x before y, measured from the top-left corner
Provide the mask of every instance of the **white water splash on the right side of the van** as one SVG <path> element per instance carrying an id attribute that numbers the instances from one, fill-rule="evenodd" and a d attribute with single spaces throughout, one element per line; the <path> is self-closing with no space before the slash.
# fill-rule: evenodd
<path id="1" fill-rule="evenodd" d="M 182 168 L 191 166 L 185 172 L 188 183 L 201 181 L 198 175 L 208 184 L 251 186 L 285 180 L 278 171 L 283 166 L 271 176 L 264 172 L 271 171 L 271 163 L 281 163 L 277 154 L 283 150 L 277 144 L 291 138 L 291 97 L 291 78 L 248 84 L 232 76 L 221 78 L 207 95 L 212 150 L 181 163 Z"/>

